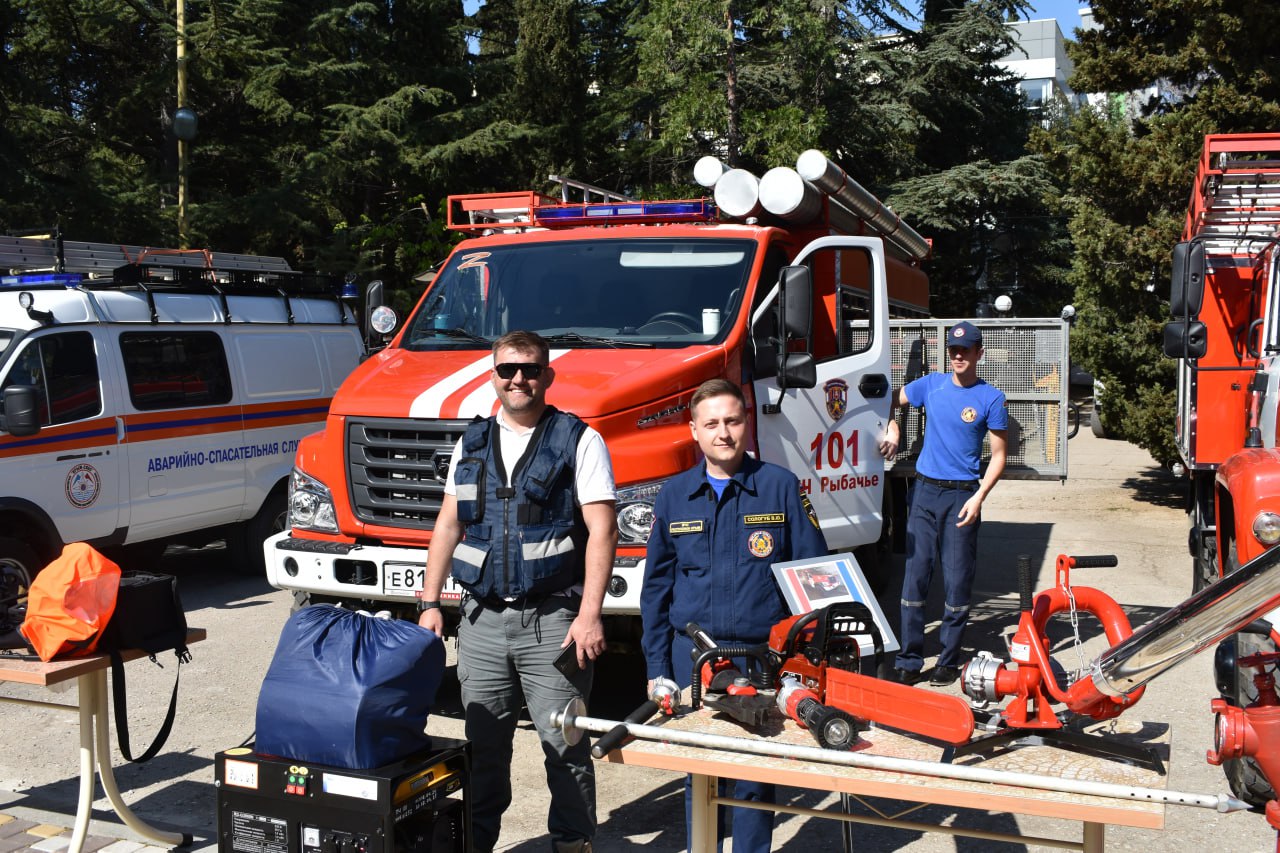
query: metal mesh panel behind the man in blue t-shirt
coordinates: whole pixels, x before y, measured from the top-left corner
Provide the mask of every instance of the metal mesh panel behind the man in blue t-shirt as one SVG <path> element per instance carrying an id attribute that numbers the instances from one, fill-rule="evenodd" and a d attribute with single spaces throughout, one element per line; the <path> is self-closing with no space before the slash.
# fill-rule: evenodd
<path id="1" fill-rule="evenodd" d="M 970 320 L 982 329 L 978 377 L 1009 401 L 1009 448 L 1004 476 L 1066 479 L 1068 325 L 1059 319 Z M 890 320 L 893 392 L 928 373 L 946 373 L 946 332 L 959 320 Z M 895 474 L 915 473 L 924 441 L 919 409 L 896 412 L 902 435 Z M 983 444 L 983 460 L 991 453 Z"/>

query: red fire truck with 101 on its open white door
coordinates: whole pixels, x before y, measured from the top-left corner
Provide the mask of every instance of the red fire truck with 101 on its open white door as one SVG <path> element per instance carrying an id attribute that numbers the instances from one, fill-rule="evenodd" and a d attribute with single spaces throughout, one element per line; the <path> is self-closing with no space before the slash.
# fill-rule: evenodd
<path id="1" fill-rule="evenodd" d="M 712 160 L 696 174 L 714 201 L 572 181 L 559 199 L 452 196 L 449 228 L 468 237 L 300 446 L 288 529 L 265 544 L 270 583 L 301 603 L 416 613 L 451 455 L 498 410 L 490 347 L 516 329 L 548 339 L 548 402 L 613 460 L 611 642 L 639 637 L 653 502 L 696 461 L 689 402 L 707 379 L 744 387 L 749 450 L 796 473 L 832 548 L 876 543 L 890 315 L 925 313 L 928 243 L 817 151 L 763 178 Z M 447 584 L 447 615 L 460 592 Z"/>

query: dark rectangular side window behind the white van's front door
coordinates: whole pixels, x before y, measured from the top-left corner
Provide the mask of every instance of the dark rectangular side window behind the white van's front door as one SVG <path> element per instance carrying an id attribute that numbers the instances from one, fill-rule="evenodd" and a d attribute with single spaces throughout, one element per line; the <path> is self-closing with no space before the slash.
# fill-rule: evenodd
<path id="1" fill-rule="evenodd" d="M 227 353 L 214 332 L 125 332 L 120 336 L 120 355 L 134 409 L 230 402 Z"/>

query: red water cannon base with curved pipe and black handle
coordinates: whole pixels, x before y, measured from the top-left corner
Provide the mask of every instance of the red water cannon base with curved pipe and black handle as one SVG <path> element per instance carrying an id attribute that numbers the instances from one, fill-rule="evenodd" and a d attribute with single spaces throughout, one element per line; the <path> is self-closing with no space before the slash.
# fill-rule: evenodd
<path id="1" fill-rule="evenodd" d="M 1084 734 L 1069 730 L 1066 726 L 1076 717 L 1110 720 L 1132 707 L 1142 698 L 1146 688 L 1116 695 L 1101 694 L 1091 679 L 1085 678 L 1084 654 L 1080 651 L 1079 613 L 1092 613 L 1106 631 L 1108 646 L 1128 639 L 1133 634 L 1129 617 L 1124 610 L 1106 593 L 1092 587 L 1071 587 L 1071 569 L 1112 567 L 1117 565 L 1115 556 L 1070 557 L 1059 555 L 1056 564 L 1056 585 L 1037 593 L 1032 598 L 1030 557 L 1018 558 L 1018 584 L 1021 599 L 1021 616 L 1018 629 L 1009 639 L 1009 666 L 989 652 L 979 652 L 961 671 L 960 683 L 965 695 L 972 699 L 977 711 L 984 711 L 992 703 L 1005 697 L 1014 699 L 992 716 L 988 729 L 995 734 L 979 736 L 973 743 L 957 749 L 957 754 L 978 752 L 996 744 L 1021 742 L 1032 744 L 1060 745 L 1078 752 L 1085 752 L 1111 758 L 1121 758 L 1151 766 L 1161 771 L 1164 765 L 1149 749 L 1134 749 L 1116 744 L 1102 735 Z M 1074 647 L 1079 656 L 1080 670 L 1068 674 L 1050 657 L 1050 640 L 1046 635 L 1048 620 L 1059 613 L 1066 613 L 1074 637 Z M 1052 704 L 1065 708 L 1055 712 Z"/>

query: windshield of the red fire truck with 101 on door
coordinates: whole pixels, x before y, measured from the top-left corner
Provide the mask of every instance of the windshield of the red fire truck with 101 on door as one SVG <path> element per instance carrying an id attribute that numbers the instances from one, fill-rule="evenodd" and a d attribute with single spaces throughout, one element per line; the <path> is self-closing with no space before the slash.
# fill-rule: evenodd
<path id="1" fill-rule="evenodd" d="M 408 323 L 408 350 L 475 347 L 515 329 L 556 345 L 678 347 L 727 334 L 749 240 L 584 240 L 463 251 Z"/>

